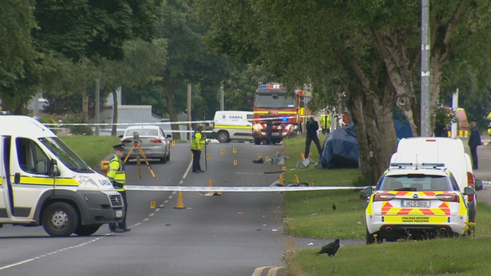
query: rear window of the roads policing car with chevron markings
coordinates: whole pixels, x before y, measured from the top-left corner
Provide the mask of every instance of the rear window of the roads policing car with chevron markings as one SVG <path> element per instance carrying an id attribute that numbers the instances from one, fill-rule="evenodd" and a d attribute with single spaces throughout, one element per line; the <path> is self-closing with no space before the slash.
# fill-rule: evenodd
<path id="1" fill-rule="evenodd" d="M 447 176 L 408 174 L 385 176 L 381 190 L 388 191 L 456 191 L 455 183 Z"/>

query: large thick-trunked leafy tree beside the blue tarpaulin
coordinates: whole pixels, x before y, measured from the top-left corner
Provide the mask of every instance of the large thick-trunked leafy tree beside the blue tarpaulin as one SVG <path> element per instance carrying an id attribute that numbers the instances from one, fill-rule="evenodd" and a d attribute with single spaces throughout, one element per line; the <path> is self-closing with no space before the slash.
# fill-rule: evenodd
<path id="1" fill-rule="evenodd" d="M 202 0 L 199 6 L 219 52 L 262 64 L 289 87 L 306 80 L 316 93 L 332 92 L 327 81 L 341 87 L 362 173 L 372 182 L 395 151 L 394 105 L 419 134 L 419 0 Z M 486 0 L 432 1 L 432 110 L 452 54 L 476 47 L 465 43 L 476 33 L 489 37 L 490 21 L 481 20 L 490 6 Z M 489 49 L 487 39 L 474 42 Z"/>

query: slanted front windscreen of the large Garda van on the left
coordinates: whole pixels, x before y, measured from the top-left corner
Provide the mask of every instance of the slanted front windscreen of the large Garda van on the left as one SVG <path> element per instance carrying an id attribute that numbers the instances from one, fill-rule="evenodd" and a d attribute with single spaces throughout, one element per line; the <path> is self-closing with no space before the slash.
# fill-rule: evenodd
<path id="1" fill-rule="evenodd" d="M 39 138 L 39 141 L 43 143 L 55 156 L 67 166 L 70 170 L 77 173 L 93 173 L 85 161 L 80 158 L 77 153 L 72 151 L 63 141 L 58 137 L 45 137 Z"/>

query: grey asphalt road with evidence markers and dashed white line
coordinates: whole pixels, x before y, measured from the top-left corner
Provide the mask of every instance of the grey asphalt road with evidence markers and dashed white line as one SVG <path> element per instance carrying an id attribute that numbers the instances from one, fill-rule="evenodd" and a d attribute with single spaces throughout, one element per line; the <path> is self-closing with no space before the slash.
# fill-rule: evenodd
<path id="1" fill-rule="evenodd" d="M 233 153 L 237 148 L 237 153 Z M 260 152 L 273 157 L 281 146 L 250 143 L 208 145 L 206 173 L 187 173 L 189 144 L 171 149 L 166 164 L 146 165 L 142 178 L 135 164 L 126 166 L 129 185 L 269 186 L 280 166 L 253 164 Z M 225 154 L 221 154 L 221 150 Z M 205 168 L 204 154 L 201 158 Z M 234 165 L 237 160 L 237 165 Z M 89 237 L 49 237 L 42 227 L 5 225 L 0 229 L 0 275 L 50 276 L 266 276 L 281 266 L 283 231 L 281 193 L 224 193 L 205 197 L 184 192 L 186 209 L 175 209 L 175 192 L 128 192 L 128 233 L 109 233 L 102 226 Z M 151 201 L 157 209 L 151 209 Z M 299 240 L 306 247 L 308 239 Z M 315 240 L 312 247 L 329 241 Z M 362 243 L 354 241 L 352 243 Z M 262 268 L 267 267 L 267 268 Z M 255 271 L 255 272 L 254 272 Z M 277 275 L 282 275 L 282 270 Z"/>

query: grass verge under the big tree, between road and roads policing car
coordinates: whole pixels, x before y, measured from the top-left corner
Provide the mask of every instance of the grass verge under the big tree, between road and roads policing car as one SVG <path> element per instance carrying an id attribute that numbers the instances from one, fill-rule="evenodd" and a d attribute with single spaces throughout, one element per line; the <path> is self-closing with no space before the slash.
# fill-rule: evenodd
<path id="1" fill-rule="evenodd" d="M 321 136 L 321 142 L 326 136 Z M 315 186 L 348 186 L 360 179 L 357 169 L 316 169 L 314 166 L 295 168 L 305 150 L 305 138 L 284 140 L 289 158 L 285 162 L 286 183 L 295 175 L 300 182 L 312 181 Z M 312 160 L 319 161 L 319 154 L 312 145 Z M 285 226 L 288 234 L 296 237 L 361 239 L 365 236 L 365 201 L 359 191 L 308 191 L 285 194 Z M 336 210 L 332 205 L 336 205 Z"/>

